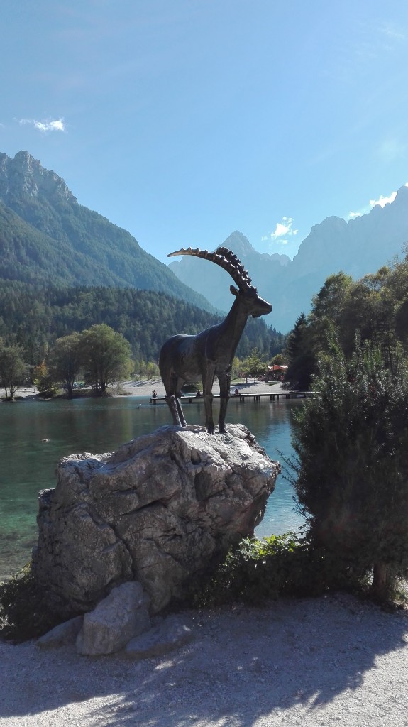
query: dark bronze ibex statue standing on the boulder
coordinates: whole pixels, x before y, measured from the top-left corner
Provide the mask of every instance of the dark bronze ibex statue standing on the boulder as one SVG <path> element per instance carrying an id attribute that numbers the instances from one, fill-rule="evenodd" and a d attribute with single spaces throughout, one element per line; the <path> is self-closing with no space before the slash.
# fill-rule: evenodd
<path id="1" fill-rule="evenodd" d="M 225 414 L 229 399 L 232 361 L 238 342 L 249 316 L 258 318 L 272 310 L 272 305 L 258 296 L 256 288 L 251 285 L 248 272 L 244 270 L 240 260 L 231 250 L 219 247 L 216 252 L 207 250 L 181 249 L 171 252 L 174 255 L 195 255 L 211 260 L 227 270 L 237 288 L 230 286 L 235 300 L 232 308 L 222 323 L 197 334 L 187 336 L 179 334 L 166 341 L 160 350 L 159 368 L 166 389 L 166 401 L 170 407 L 175 425 L 187 426 L 181 409 L 181 387 L 184 382 L 203 381 L 203 399 L 205 406 L 205 427 L 210 434 L 214 433 L 213 423 L 213 380 L 219 379 L 220 411 L 219 432 L 225 432 Z"/>

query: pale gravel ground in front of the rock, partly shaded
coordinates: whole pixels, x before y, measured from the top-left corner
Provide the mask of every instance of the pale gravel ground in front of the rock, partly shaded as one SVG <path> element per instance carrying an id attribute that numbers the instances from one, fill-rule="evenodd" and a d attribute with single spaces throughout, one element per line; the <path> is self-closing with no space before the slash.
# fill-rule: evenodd
<path id="1" fill-rule="evenodd" d="M 185 612 L 194 640 L 133 662 L 0 642 L 1 727 L 408 726 L 408 614 L 348 595 Z"/>

